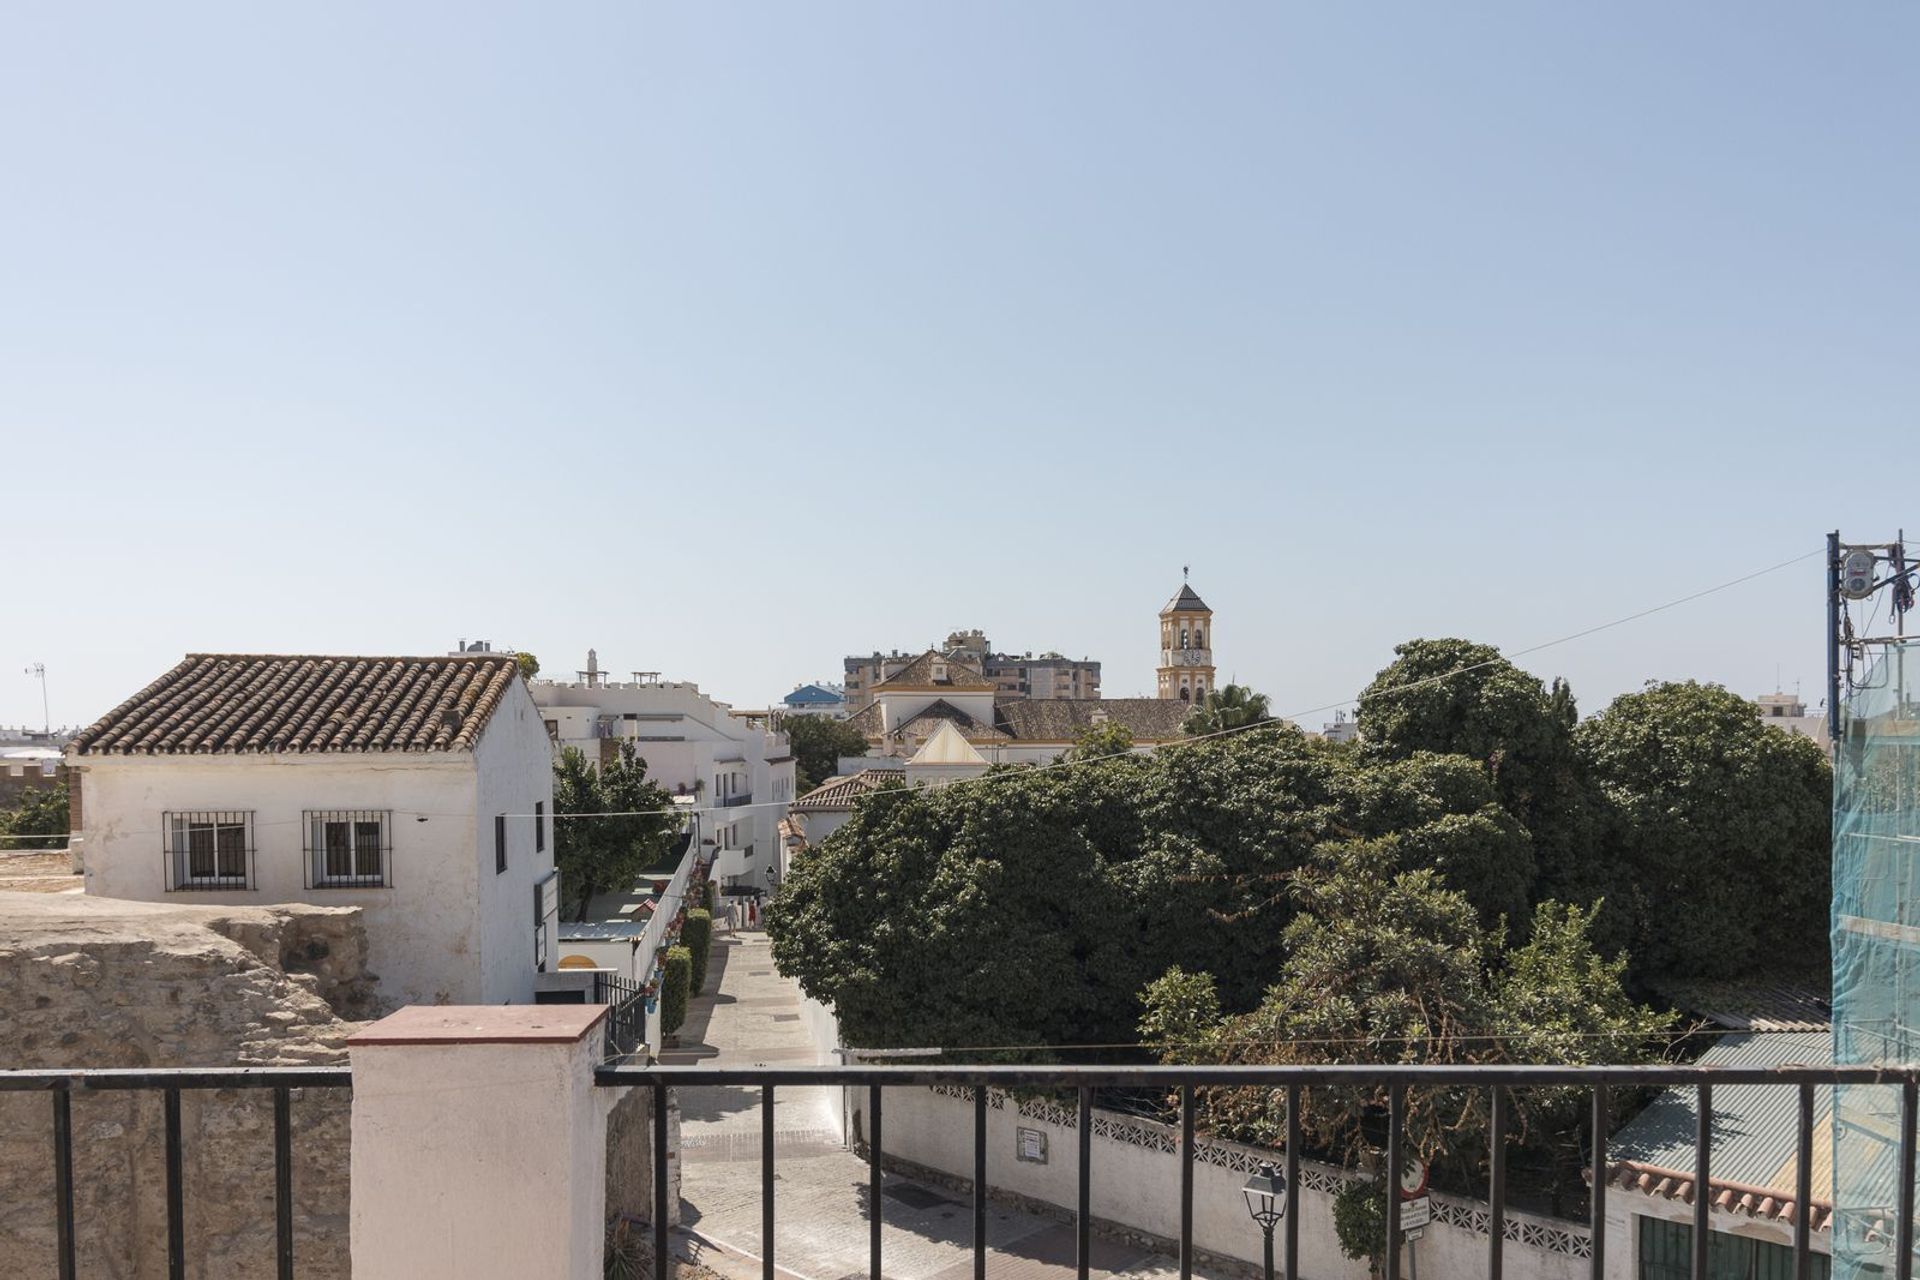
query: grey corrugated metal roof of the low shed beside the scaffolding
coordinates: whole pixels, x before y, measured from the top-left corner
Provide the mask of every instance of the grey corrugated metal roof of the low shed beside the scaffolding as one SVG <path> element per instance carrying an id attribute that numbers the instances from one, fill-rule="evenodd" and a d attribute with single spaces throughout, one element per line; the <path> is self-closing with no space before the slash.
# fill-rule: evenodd
<path id="1" fill-rule="evenodd" d="M 1834 1038 L 1824 1032 L 1732 1034 L 1707 1050 L 1703 1067 L 1830 1067 Z M 1693 1167 L 1695 1092 L 1668 1088 L 1607 1144 L 1607 1155 L 1663 1169 Z M 1834 1197 L 1830 1163 L 1834 1090 L 1814 1088 L 1812 1194 Z M 1716 1084 L 1713 1090 L 1713 1180 L 1793 1194 L 1799 1148 L 1799 1090 L 1788 1084 Z"/>

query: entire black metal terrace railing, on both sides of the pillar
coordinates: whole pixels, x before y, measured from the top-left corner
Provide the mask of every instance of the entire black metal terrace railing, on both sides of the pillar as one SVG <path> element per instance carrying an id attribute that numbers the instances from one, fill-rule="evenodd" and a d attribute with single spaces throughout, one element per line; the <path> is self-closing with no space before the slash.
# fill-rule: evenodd
<path id="1" fill-rule="evenodd" d="M 52 1169 L 50 1192 L 58 1217 L 60 1276 L 71 1278 L 75 1257 L 73 1221 L 73 1115 L 71 1098 L 88 1090 L 159 1090 L 165 1096 L 165 1169 L 167 1169 L 167 1249 L 169 1274 L 184 1276 L 184 1180 L 180 1144 L 180 1094 L 184 1090 L 271 1088 L 275 1096 L 275 1221 L 278 1276 L 294 1274 L 294 1207 L 292 1207 L 292 1130 L 290 1090 L 348 1088 L 353 1077 L 348 1069 L 309 1067 L 232 1067 L 232 1069 L 173 1069 L 173 1071 L 0 1071 L 0 1092 L 42 1090 L 52 1096 Z M 1096 1088 L 1154 1088 L 1179 1098 L 1181 1113 L 1181 1182 L 1179 1182 L 1179 1263 L 1183 1280 L 1194 1267 L 1194 1121 L 1198 1090 L 1206 1088 L 1271 1088 L 1284 1090 L 1288 1132 L 1284 1161 L 1284 1257 L 1283 1274 L 1298 1276 L 1300 1257 L 1300 1102 L 1317 1088 L 1373 1086 L 1388 1094 L 1388 1169 L 1404 1165 L 1407 1090 L 1423 1088 L 1484 1088 L 1490 1102 L 1490 1169 L 1488 1205 L 1490 1230 L 1486 1276 L 1500 1280 L 1505 1251 L 1507 1211 L 1507 1142 L 1513 1119 L 1513 1090 L 1576 1088 L 1586 1090 L 1592 1105 L 1596 1140 L 1592 1144 L 1592 1253 L 1590 1274 L 1607 1274 L 1607 1132 L 1611 1128 L 1611 1100 L 1617 1088 L 1682 1086 L 1697 1090 L 1697 1130 L 1693 1186 L 1711 1186 L 1713 1153 L 1713 1090 L 1730 1084 L 1764 1084 L 1799 1094 L 1799 1157 L 1793 1215 L 1793 1274 L 1811 1276 L 1811 1215 L 1812 1153 L 1814 1153 L 1814 1090 L 1832 1084 L 1880 1084 L 1899 1088 L 1897 1174 L 1893 1178 L 1897 1203 L 1887 1205 L 1891 1222 L 1893 1276 L 1912 1280 L 1914 1267 L 1914 1125 L 1920 1115 L 1920 1067 L 618 1067 L 605 1065 L 593 1073 L 593 1082 L 605 1088 L 653 1090 L 653 1265 L 657 1276 L 672 1274 L 668 1253 L 668 1157 L 672 1088 L 756 1088 L 760 1090 L 760 1215 L 764 1257 L 762 1274 L 774 1280 L 774 1103 L 780 1088 L 843 1086 L 868 1090 L 868 1167 L 872 1180 L 868 1213 L 868 1270 L 881 1278 L 881 1167 L 885 1161 L 883 1090 L 899 1086 L 970 1088 L 973 1098 L 973 1278 L 987 1274 L 987 1094 L 989 1090 L 1071 1090 L 1077 1098 L 1077 1213 L 1075 1263 L 1081 1280 L 1091 1274 L 1092 1249 L 1092 1096 Z M 1889 1151 L 1891 1155 L 1891 1151 Z M 1889 1161 L 1891 1163 L 1891 1161 Z M 430 1176 L 432 1171 L 422 1171 Z M 1713 1232 L 1709 1209 L 1713 1196 L 1693 1194 L 1692 1274 L 1707 1280 L 1707 1251 Z M 1402 1276 L 1400 1199 L 1386 1197 L 1386 1280 Z"/>

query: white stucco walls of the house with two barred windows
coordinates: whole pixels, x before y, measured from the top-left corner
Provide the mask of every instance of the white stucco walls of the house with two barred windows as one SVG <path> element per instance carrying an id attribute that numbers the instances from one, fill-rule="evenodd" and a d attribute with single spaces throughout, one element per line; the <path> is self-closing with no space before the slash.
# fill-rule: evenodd
<path id="1" fill-rule="evenodd" d="M 511 685 L 472 750 L 88 754 L 69 768 L 84 794 L 88 894 L 357 906 L 382 1000 L 532 1002 L 536 885 L 553 871 L 553 770 L 524 683 Z M 244 883 L 171 887 L 180 877 L 169 814 L 198 812 L 246 816 Z M 382 816 L 384 885 L 315 885 L 324 881 L 315 875 L 317 812 Z M 503 871 L 495 816 L 507 818 Z M 551 958 L 553 919 L 540 927 Z"/>

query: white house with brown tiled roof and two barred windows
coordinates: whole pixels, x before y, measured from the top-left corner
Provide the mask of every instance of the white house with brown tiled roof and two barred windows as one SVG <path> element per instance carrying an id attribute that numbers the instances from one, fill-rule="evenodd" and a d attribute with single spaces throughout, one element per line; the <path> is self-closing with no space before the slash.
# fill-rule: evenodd
<path id="1" fill-rule="evenodd" d="M 86 892 L 357 906 L 396 1004 L 534 998 L 553 762 L 507 656 L 190 654 L 67 748 Z"/>

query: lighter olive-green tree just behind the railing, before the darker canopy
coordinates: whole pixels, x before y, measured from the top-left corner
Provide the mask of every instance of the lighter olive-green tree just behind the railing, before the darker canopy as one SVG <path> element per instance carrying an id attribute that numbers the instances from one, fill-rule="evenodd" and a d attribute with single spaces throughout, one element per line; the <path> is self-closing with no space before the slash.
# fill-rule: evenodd
<path id="1" fill-rule="evenodd" d="M 1526 946 L 1509 950 L 1438 873 L 1402 869 L 1392 839 L 1323 844 L 1290 892 L 1300 912 L 1261 1004 L 1215 1017 L 1212 983 L 1169 971 L 1142 994 L 1142 1042 L 1179 1063 L 1588 1063 L 1644 1059 L 1668 1031 L 1626 998 L 1624 961 L 1592 950 L 1586 912 L 1544 904 Z M 1515 1103 L 1523 1136 L 1574 1119 L 1549 1090 Z M 1204 1105 L 1223 1134 L 1284 1134 L 1284 1092 L 1208 1090 Z M 1313 1146 L 1357 1155 L 1384 1105 L 1380 1086 L 1315 1088 L 1302 1126 Z M 1409 1092 L 1411 1150 L 1471 1157 L 1461 1136 L 1484 1125 L 1484 1090 Z"/>

